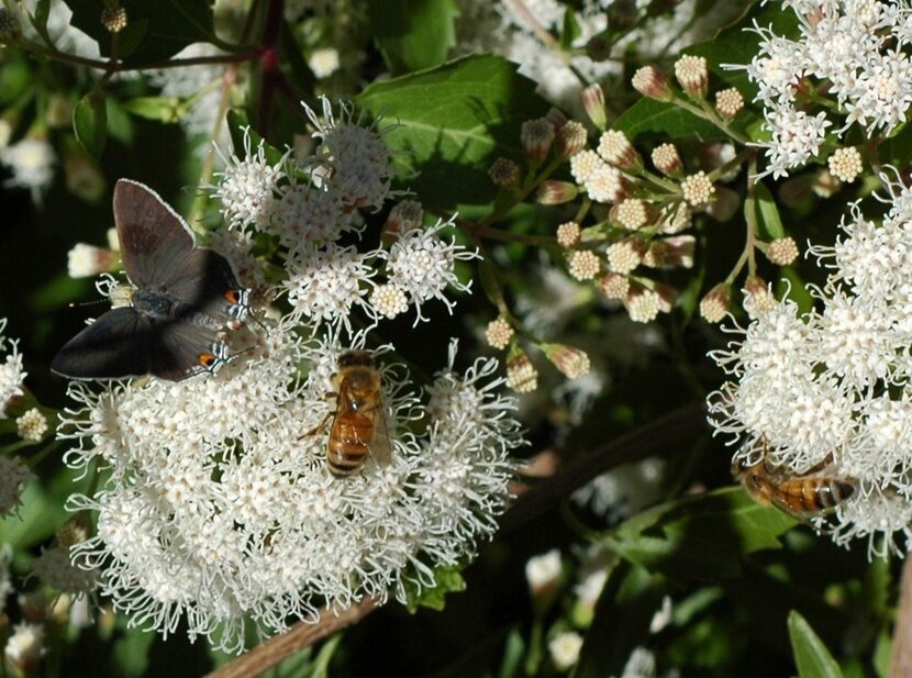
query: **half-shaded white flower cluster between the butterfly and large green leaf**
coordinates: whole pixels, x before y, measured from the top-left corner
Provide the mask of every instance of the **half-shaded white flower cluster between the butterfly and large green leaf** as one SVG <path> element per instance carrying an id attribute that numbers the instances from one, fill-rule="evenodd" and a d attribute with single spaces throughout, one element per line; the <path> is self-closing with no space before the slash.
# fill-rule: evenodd
<path id="1" fill-rule="evenodd" d="M 252 235 L 263 233 L 285 253 L 280 287 L 291 307 L 289 325 L 327 323 L 351 331 L 356 308 L 379 319 L 393 318 L 409 305 L 419 322 L 424 319 L 422 305 L 432 299 L 452 310 L 447 288 L 468 290 L 456 276 L 456 262 L 477 254 L 443 236 L 452 221 L 424 227 L 421 214 L 407 227 L 390 230 L 388 247 L 365 252 L 343 244 L 366 240 L 357 210 L 376 211 L 390 196 L 390 153 L 381 134 L 358 124 L 347 107 L 341 108 L 338 120 L 326 99 L 322 119 L 308 113 L 320 140 L 314 155 L 294 159 L 288 153 L 270 162 L 264 144 L 252 148 L 247 136 L 246 157 L 225 158 L 225 169 L 216 174 L 221 182 L 210 187 L 234 233 L 236 246 L 227 247 L 232 257 L 251 263 L 238 267 L 244 284 L 255 291 L 265 285 L 249 256 Z"/>

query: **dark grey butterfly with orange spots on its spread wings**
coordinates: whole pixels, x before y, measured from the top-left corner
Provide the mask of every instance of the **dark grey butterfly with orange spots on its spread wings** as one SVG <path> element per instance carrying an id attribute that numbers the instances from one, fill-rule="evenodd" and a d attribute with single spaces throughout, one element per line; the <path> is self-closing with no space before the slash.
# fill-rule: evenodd
<path id="1" fill-rule="evenodd" d="M 169 381 L 213 371 L 230 357 L 223 331 L 244 322 L 249 290 L 223 256 L 194 246 L 187 223 L 147 186 L 118 180 L 114 222 L 131 305 L 69 340 L 51 369 L 71 379 Z"/>

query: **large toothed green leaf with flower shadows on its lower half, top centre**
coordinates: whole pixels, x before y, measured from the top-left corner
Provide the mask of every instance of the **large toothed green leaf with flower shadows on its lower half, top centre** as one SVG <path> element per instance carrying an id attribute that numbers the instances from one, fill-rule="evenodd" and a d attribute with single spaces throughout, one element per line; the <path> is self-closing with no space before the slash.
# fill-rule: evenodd
<path id="1" fill-rule="evenodd" d="M 386 140 L 400 152 L 393 165 L 402 185 L 429 211 L 468 218 L 497 196 L 487 168 L 498 156 L 521 157 L 520 125 L 548 109 L 532 80 L 491 55 L 375 82 L 355 101 L 393 123 Z"/>

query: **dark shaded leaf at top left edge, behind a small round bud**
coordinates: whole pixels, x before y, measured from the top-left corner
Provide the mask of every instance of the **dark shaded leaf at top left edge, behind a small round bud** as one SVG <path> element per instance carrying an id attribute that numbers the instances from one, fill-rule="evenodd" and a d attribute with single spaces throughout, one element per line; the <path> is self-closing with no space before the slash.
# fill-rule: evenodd
<path id="1" fill-rule="evenodd" d="M 209 0 L 121 0 L 127 25 L 116 36 L 101 25 L 104 0 L 64 1 L 73 10 L 73 25 L 93 38 L 103 56 L 112 56 L 116 44 L 116 56 L 131 66 L 167 59 L 214 34 Z"/>

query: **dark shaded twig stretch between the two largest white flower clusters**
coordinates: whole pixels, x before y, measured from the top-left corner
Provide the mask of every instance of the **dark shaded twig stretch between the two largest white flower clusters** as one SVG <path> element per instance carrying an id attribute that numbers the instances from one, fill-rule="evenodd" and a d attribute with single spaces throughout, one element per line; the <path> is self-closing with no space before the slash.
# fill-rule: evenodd
<path id="1" fill-rule="evenodd" d="M 693 438 L 705 430 L 703 404 L 694 403 L 622 435 L 520 496 L 500 519 L 500 532 L 514 530 L 538 518 L 599 474 L 648 457 L 672 443 Z"/>

